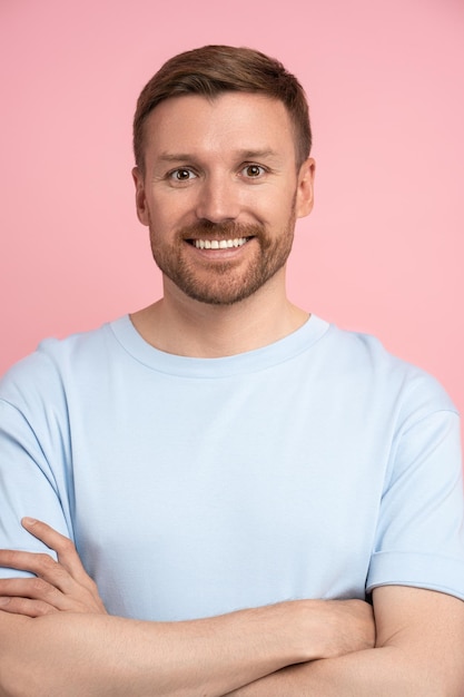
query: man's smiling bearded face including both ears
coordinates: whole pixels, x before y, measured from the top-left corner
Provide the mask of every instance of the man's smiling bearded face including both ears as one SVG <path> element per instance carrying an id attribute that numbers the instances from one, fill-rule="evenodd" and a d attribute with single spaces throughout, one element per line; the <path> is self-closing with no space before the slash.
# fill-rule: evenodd
<path id="1" fill-rule="evenodd" d="M 244 92 L 181 96 L 156 107 L 145 128 L 137 210 L 165 292 L 174 284 L 197 301 L 231 304 L 283 278 L 314 174 L 313 160 L 297 171 L 284 105 Z"/>

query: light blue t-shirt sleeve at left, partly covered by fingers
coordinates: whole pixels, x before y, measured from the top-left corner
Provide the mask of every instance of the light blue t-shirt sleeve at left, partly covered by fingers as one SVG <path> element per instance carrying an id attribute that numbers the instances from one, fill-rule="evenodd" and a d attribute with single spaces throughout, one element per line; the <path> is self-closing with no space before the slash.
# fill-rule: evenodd
<path id="1" fill-rule="evenodd" d="M 37 361 L 31 363 L 37 369 Z M 40 367 L 40 366 L 39 366 Z M 0 548 L 53 553 L 21 526 L 29 516 L 43 520 L 72 538 L 71 478 L 67 434 L 57 419 L 62 399 L 50 374 L 38 371 L 48 389 L 23 381 L 29 366 L 14 370 L 2 381 L 0 395 Z M 19 376 L 19 380 L 17 377 Z M 0 577 L 30 576 L 0 568 Z"/>

